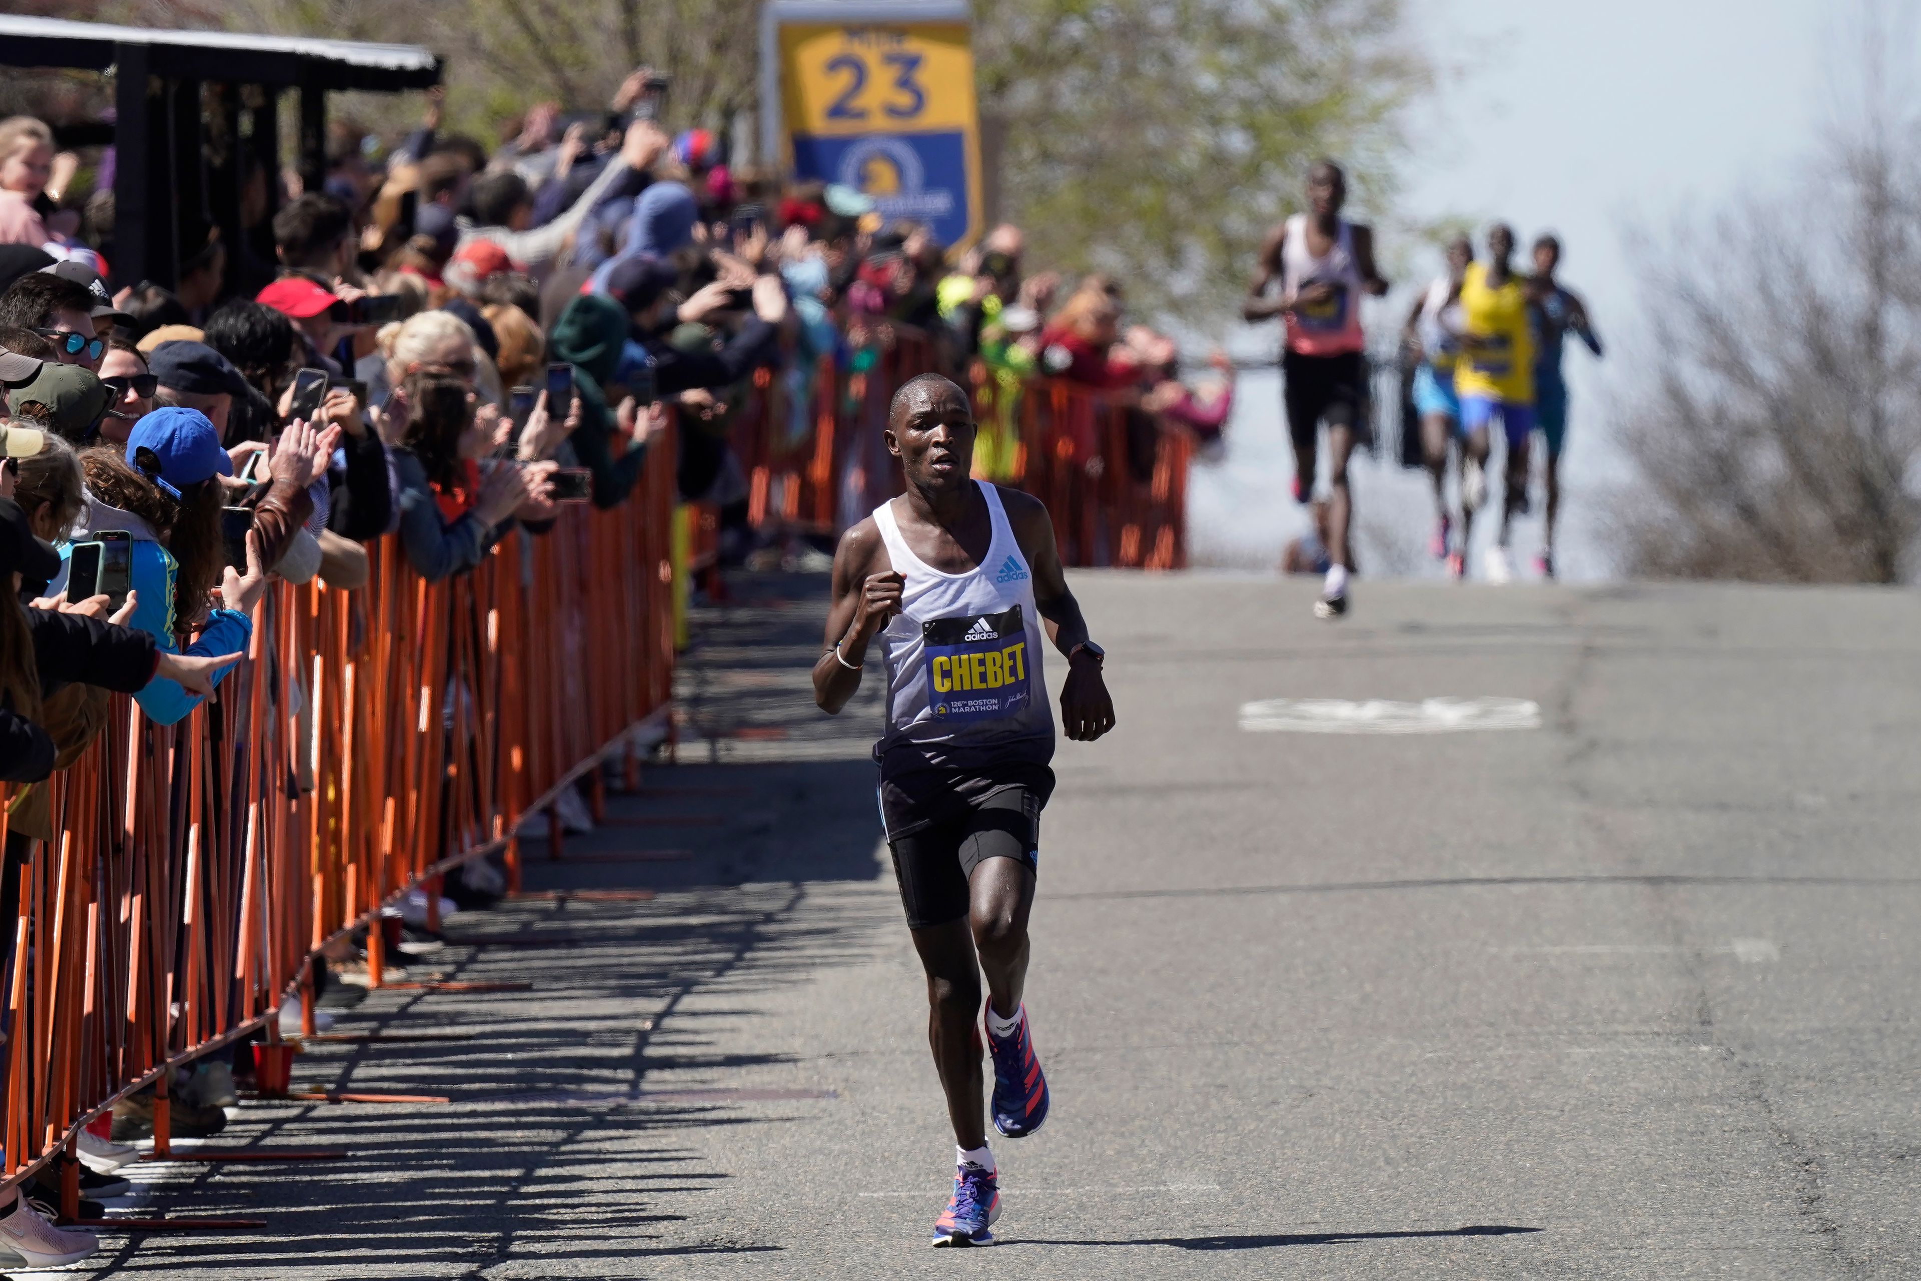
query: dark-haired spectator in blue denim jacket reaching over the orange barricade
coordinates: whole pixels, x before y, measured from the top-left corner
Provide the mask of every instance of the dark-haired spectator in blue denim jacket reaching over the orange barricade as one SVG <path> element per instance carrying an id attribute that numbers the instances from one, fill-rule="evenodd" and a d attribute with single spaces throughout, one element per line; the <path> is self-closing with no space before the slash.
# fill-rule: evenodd
<path id="1" fill-rule="evenodd" d="M 401 417 L 392 451 L 400 474 L 400 545 L 421 578 L 463 574 L 513 528 L 515 515 L 551 519 L 549 463 L 480 459 L 503 444 L 498 421 L 482 421 L 473 388 L 451 373 L 415 371 L 394 394 Z"/>

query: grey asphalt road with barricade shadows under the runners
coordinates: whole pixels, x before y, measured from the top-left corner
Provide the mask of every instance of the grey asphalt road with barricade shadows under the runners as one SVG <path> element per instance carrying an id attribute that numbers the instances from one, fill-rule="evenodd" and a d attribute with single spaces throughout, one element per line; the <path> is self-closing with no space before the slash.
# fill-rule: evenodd
<path id="1" fill-rule="evenodd" d="M 1043 820 L 1053 1116 L 995 1145 L 1001 1245 L 934 1252 L 951 1135 L 878 705 L 807 695 L 822 586 L 707 611 L 680 764 L 534 866 L 653 901 L 457 918 L 571 941 L 450 949 L 534 991 L 353 1024 L 471 1049 L 296 1070 L 459 1102 L 250 1110 L 382 1162 L 179 1175 L 169 1212 L 277 1229 L 111 1275 L 1921 1275 L 1913 593 L 1360 584 L 1324 624 L 1306 580 L 1078 574 L 1120 728 Z M 1239 728 L 1302 697 L 1539 726 Z"/>

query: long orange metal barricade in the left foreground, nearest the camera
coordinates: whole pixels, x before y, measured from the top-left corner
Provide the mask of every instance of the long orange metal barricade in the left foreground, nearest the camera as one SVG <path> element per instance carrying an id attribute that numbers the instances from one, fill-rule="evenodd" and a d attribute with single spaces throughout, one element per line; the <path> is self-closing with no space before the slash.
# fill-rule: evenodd
<path id="1" fill-rule="evenodd" d="M 165 1099 L 175 1066 L 277 1035 L 342 931 L 375 926 L 378 983 L 382 905 L 417 885 L 438 905 L 438 876 L 490 851 L 515 880 L 523 814 L 665 724 L 672 432 L 649 453 L 624 505 L 567 509 L 473 574 L 425 582 L 388 538 L 367 590 L 277 584 L 252 661 L 177 726 L 113 701 L 21 870 L 0 1187 L 121 1095 Z"/>

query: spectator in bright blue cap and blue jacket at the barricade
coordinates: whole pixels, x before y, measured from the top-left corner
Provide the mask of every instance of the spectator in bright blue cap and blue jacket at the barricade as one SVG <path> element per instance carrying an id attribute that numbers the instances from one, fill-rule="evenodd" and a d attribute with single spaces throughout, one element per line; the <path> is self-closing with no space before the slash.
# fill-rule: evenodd
<path id="1" fill-rule="evenodd" d="M 165 653 L 198 630 L 184 653 L 213 657 L 244 653 L 254 636 L 254 605 L 267 588 L 259 544 L 248 534 L 246 572 L 225 565 L 221 542 L 221 476 L 232 463 L 219 432 L 198 409 L 158 409 L 133 426 L 125 447 L 81 455 L 88 505 L 73 538 L 60 545 L 60 574 L 48 592 L 61 592 L 73 545 L 104 530 L 133 536 L 134 613 L 127 626 L 146 632 Z M 232 668 L 215 672 L 219 684 Z M 200 707 L 202 693 L 156 678 L 134 693 L 150 720 L 175 724 Z"/>

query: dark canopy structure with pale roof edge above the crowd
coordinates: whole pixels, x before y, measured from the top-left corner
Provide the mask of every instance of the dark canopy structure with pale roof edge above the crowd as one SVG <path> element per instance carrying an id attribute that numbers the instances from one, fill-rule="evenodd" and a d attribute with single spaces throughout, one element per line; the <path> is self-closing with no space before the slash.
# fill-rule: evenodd
<path id="1" fill-rule="evenodd" d="M 148 31 L 54 17 L 0 15 L 0 67 L 109 73 L 115 121 L 61 131 L 63 142 L 113 142 L 113 278 L 173 288 L 179 263 L 219 227 L 227 284 L 246 261 L 273 261 L 279 200 L 279 102 L 300 92 L 298 161 L 319 190 L 327 175 L 327 92 L 403 92 L 440 83 L 442 61 L 415 44 L 363 44 L 229 31 Z"/>

